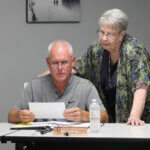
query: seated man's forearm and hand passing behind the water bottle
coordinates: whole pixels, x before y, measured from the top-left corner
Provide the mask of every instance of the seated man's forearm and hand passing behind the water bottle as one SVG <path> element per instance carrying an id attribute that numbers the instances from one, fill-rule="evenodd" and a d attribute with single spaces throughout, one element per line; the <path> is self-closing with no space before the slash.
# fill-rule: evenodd
<path id="1" fill-rule="evenodd" d="M 64 117 L 67 120 L 71 121 L 83 121 L 83 122 L 89 122 L 90 116 L 88 111 L 81 110 L 80 108 L 70 108 L 64 111 Z M 100 121 L 102 123 L 108 122 L 108 115 L 106 111 L 100 112 Z"/>

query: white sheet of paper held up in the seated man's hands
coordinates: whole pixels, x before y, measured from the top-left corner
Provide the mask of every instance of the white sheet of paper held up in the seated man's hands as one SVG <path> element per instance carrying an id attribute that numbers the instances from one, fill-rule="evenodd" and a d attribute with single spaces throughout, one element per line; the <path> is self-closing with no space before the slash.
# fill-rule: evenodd
<path id="1" fill-rule="evenodd" d="M 56 118 L 64 119 L 64 102 L 39 103 L 29 102 L 29 109 L 35 115 L 35 118 Z"/>

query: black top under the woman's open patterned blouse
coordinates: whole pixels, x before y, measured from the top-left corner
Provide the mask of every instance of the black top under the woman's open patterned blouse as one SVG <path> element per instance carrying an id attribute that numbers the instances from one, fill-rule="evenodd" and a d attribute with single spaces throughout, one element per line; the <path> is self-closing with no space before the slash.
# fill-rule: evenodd
<path id="1" fill-rule="evenodd" d="M 106 98 L 106 109 L 111 117 L 110 121 L 115 122 L 115 99 L 116 99 L 116 71 L 118 61 L 111 65 L 109 52 L 104 50 L 102 66 L 100 70 L 101 88 Z M 110 71 L 109 71 L 110 70 Z"/>

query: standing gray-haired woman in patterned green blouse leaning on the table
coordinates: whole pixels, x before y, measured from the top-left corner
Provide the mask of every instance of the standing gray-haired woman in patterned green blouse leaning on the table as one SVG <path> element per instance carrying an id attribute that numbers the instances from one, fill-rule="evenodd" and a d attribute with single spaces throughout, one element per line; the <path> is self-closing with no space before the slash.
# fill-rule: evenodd
<path id="1" fill-rule="evenodd" d="M 99 19 L 99 40 L 77 59 L 75 70 L 96 86 L 110 122 L 150 122 L 150 54 L 126 34 L 127 15 L 105 11 Z"/>

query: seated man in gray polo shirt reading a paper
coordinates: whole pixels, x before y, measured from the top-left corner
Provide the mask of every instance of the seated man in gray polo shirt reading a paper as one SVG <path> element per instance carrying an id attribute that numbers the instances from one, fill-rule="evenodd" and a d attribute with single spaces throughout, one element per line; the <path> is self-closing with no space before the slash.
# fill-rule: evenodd
<path id="1" fill-rule="evenodd" d="M 27 85 L 20 101 L 9 112 L 9 122 L 34 121 L 29 102 L 65 102 L 63 115 L 67 120 L 88 122 L 89 105 L 95 98 L 100 104 L 100 121 L 108 122 L 107 112 L 94 85 L 87 79 L 71 74 L 75 56 L 70 43 L 63 40 L 52 42 L 48 47 L 46 62 L 51 74 L 35 78 Z"/>

